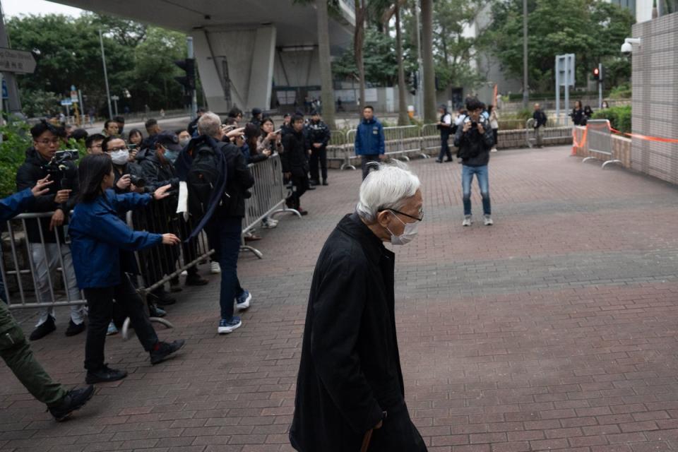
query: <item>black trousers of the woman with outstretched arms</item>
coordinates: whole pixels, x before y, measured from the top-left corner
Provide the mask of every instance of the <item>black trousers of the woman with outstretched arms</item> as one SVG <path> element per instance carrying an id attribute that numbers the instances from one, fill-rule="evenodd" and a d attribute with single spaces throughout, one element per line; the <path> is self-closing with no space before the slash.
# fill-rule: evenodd
<path id="1" fill-rule="evenodd" d="M 143 309 L 141 297 L 126 273 L 120 278 L 119 285 L 84 290 L 90 319 L 85 342 L 85 369 L 88 371 L 97 371 L 104 365 L 106 331 L 114 315 L 113 299 L 121 312 L 129 317 L 143 349 L 150 352 L 157 344 L 157 334 L 148 320 L 148 312 Z"/>

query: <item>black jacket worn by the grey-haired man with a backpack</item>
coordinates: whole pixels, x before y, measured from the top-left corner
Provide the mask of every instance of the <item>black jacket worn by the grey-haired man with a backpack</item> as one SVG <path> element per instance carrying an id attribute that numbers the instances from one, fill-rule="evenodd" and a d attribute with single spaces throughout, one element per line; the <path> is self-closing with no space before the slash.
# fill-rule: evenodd
<path id="1" fill-rule="evenodd" d="M 247 190 L 254 185 L 254 176 L 237 145 L 222 144 L 221 149 L 226 159 L 226 193 L 228 196 L 222 199 L 212 218 L 244 217 L 245 197 Z"/>

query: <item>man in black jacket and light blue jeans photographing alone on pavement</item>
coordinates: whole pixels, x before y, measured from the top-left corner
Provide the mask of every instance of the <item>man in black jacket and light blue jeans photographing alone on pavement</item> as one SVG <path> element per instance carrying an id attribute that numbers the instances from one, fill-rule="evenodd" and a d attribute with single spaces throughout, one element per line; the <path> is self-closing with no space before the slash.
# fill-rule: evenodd
<path id="1" fill-rule="evenodd" d="M 494 145 L 492 127 L 482 115 L 484 105 L 475 97 L 466 100 L 468 116 L 454 136 L 454 145 L 459 148 L 458 155 L 462 159 L 462 189 L 464 201 L 463 226 L 471 225 L 471 182 L 473 175 L 478 179 L 480 196 L 482 196 L 482 212 L 485 226 L 494 224 L 489 202 L 489 150 Z"/>

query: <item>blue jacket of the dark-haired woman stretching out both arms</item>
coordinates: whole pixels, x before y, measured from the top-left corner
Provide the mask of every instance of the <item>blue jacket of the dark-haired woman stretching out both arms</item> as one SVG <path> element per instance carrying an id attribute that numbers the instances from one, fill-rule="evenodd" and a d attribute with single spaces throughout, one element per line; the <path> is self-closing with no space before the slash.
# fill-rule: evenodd
<path id="1" fill-rule="evenodd" d="M 107 190 L 73 209 L 69 235 L 78 287 L 112 287 L 120 283 L 120 251 L 136 251 L 162 242 L 162 234 L 131 230 L 118 213 L 150 203 L 150 194 L 115 194 Z"/>

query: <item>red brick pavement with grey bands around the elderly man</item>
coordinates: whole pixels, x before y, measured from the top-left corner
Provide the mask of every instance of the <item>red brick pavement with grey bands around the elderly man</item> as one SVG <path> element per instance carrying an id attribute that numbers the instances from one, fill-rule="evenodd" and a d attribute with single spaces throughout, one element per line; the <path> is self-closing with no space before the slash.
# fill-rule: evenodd
<path id="1" fill-rule="evenodd" d="M 425 220 L 396 250 L 396 309 L 429 451 L 678 450 L 678 189 L 568 154 L 493 155 L 493 227 L 461 227 L 460 165 L 412 163 Z M 109 364 L 129 377 L 98 386 L 63 424 L 0 367 L 0 449 L 290 451 L 309 279 L 359 186 L 358 172 L 330 175 L 304 195 L 308 217 L 262 231 L 263 260 L 242 256 L 254 304 L 232 335 L 216 334 L 209 275 L 169 307 L 176 328 L 160 331 L 186 338 L 185 350 L 151 367 L 136 340 L 109 338 Z M 64 318 L 34 350 L 72 386 L 84 338 L 65 338 Z"/>

